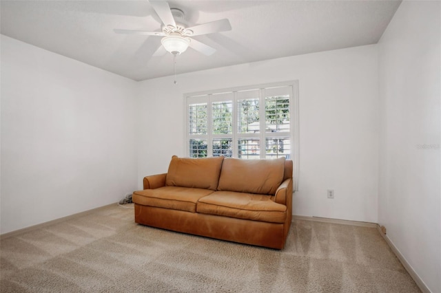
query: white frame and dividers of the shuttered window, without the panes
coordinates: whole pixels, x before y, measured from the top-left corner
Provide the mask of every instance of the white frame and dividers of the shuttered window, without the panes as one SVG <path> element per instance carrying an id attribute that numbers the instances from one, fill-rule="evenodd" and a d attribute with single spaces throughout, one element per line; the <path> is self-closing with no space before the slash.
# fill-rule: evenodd
<path id="1" fill-rule="evenodd" d="M 260 119 L 260 131 L 259 133 L 238 133 L 237 125 L 237 101 L 238 93 L 245 91 L 258 91 L 259 105 L 265 105 L 265 90 L 274 91 L 277 88 L 291 87 L 289 92 L 290 102 L 289 102 L 289 132 L 274 132 L 267 133 L 265 131 L 265 119 Z M 289 140 L 291 142 L 291 153 L 290 160 L 293 161 L 294 170 L 294 190 L 298 190 L 298 171 L 299 171 L 299 109 L 298 109 L 298 80 L 290 80 L 281 83 L 268 83 L 263 85 L 249 85 L 245 87 L 234 87 L 228 89 L 214 89 L 210 91 L 198 91 L 193 93 L 184 94 L 185 98 L 185 151 L 187 155 L 189 154 L 189 140 L 190 139 L 202 139 L 207 140 L 207 155 L 212 156 L 213 153 L 213 139 L 216 138 L 231 138 L 232 139 L 232 149 L 233 158 L 238 158 L 238 140 L 240 138 L 258 138 L 260 141 L 260 159 L 265 159 L 265 138 L 283 138 L 287 137 L 289 133 Z M 218 102 L 222 100 L 232 100 L 232 134 L 213 134 L 212 132 L 212 102 Z M 189 105 L 196 102 L 205 103 L 207 102 L 207 134 L 206 135 L 190 135 L 189 134 L 189 115 L 188 109 Z M 265 107 L 260 107 L 260 117 L 265 117 Z"/>

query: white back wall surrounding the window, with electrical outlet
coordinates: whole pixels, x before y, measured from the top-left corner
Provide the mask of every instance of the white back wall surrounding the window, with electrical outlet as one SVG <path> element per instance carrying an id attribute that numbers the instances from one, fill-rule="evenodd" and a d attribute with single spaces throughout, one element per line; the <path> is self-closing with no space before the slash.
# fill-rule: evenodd
<path id="1" fill-rule="evenodd" d="M 183 94 L 299 80 L 294 214 L 376 222 L 377 65 L 376 45 L 368 45 L 182 74 L 176 86 L 172 77 L 141 82 L 139 187 L 143 176 L 166 172 L 172 155 L 187 155 Z"/>

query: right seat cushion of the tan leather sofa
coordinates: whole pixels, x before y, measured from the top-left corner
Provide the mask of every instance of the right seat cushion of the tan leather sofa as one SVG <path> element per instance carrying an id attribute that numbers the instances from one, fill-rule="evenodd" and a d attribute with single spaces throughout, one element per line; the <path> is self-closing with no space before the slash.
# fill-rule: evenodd
<path id="1" fill-rule="evenodd" d="M 285 223 L 287 207 L 271 201 L 268 195 L 216 191 L 199 199 L 196 210 L 209 215 Z"/>

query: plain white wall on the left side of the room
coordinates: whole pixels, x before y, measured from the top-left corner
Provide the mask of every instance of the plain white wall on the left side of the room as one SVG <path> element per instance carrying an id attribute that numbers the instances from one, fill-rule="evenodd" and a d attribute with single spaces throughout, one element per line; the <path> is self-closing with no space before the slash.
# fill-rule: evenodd
<path id="1" fill-rule="evenodd" d="M 1 36 L 1 227 L 136 189 L 136 83 Z"/>

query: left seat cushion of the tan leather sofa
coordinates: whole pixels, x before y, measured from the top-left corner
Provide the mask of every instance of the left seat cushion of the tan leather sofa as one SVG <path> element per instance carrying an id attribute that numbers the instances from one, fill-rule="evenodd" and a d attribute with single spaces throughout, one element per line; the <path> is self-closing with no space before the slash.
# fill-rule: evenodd
<path id="1" fill-rule="evenodd" d="M 213 193 L 213 191 L 209 189 L 164 186 L 135 191 L 132 195 L 132 201 L 143 206 L 156 206 L 157 208 L 170 208 L 196 213 L 198 199 L 210 193 Z"/>

